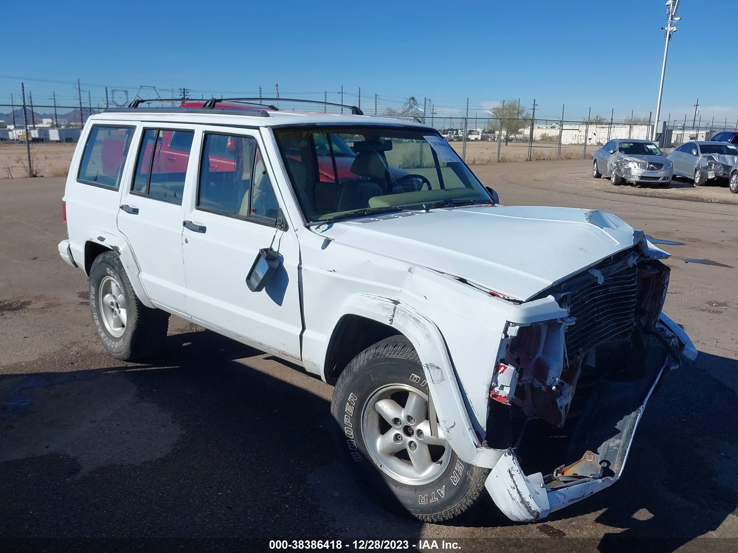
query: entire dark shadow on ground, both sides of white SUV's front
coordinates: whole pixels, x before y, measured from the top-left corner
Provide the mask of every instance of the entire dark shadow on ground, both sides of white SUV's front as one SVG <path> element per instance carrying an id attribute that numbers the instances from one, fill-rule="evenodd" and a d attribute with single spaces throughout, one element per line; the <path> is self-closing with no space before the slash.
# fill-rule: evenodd
<path id="1" fill-rule="evenodd" d="M 248 536 L 254 551 L 272 539 L 415 543 L 423 525 L 377 507 L 336 462 L 331 389 L 297 366 L 249 366 L 257 357 L 199 331 L 169 336 L 146 364 L 2 378 L 0 535 Z M 738 372 L 738 361 L 703 353 L 669 375 L 623 479 L 535 524 L 542 535 L 569 536 L 568 519 L 601 511 L 613 528 L 601 552 L 667 553 L 735 512 L 738 397 L 706 367 Z M 530 535 L 483 507 L 448 525 Z"/>

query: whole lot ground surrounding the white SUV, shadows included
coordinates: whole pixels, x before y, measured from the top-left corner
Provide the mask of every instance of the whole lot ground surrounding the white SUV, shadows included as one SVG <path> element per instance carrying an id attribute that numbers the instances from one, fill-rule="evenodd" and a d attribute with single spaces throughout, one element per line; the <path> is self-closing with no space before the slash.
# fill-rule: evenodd
<path id="1" fill-rule="evenodd" d="M 504 204 L 594 207 L 674 242 L 661 246 L 673 254 L 665 310 L 700 356 L 649 403 L 618 484 L 527 525 L 492 509 L 434 525 L 375 507 L 334 462 L 330 386 L 181 319 L 151 363 L 108 357 L 86 278 L 56 252 L 63 178 L 0 180 L 0 546 L 264 551 L 272 539 L 320 538 L 351 549 L 407 539 L 470 552 L 738 550 L 738 207 L 615 189 L 590 163 L 475 172 Z"/>

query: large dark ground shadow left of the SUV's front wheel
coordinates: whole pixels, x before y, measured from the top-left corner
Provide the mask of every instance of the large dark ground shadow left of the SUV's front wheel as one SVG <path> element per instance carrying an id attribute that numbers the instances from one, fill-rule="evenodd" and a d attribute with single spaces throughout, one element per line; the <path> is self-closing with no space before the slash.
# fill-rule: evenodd
<path id="1" fill-rule="evenodd" d="M 0 379 L 0 535 L 414 543 L 336 467 L 328 385 L 263 356 L 199 331 L 148 363 Z"/>

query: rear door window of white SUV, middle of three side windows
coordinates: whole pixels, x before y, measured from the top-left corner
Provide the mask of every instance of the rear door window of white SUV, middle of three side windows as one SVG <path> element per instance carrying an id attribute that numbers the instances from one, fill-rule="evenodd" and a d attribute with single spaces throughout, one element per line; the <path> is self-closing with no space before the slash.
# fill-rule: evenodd
<path id="1" fill-rule="evenodd" d="M 131 192 L 181 205 L 194 135 L 193 131 L 146 129 Z"/>

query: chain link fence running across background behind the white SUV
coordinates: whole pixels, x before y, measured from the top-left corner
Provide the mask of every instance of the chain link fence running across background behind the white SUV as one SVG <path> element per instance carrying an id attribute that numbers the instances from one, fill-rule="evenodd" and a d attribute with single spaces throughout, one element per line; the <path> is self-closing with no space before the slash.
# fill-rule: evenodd
<path id="1" fill-rule="evenodd" d="M 375 96 L 376 100 L 376 96 Z M 65 176 L 69 171 L 83 122 L 104 111 L 92 105 L 0 104 L 0 178 Z M 418 110 L 418 112 L 421 110 Z M 432 112 L 431 112 L 432 113 Z M 650 139 L 651 117 L 601 116 L 582 119 L 546 119 L 532 114 L 517 117 L 405 116 L 438 128 L 468 164 L 505 161 L 588 159 L 610 139 Z M 658 129 L 656 141 L 667 150 L 689 140 L 708 140 L 717 132 L 736 130 L 735 125 L 688 125 L 669 120 Z"/>

